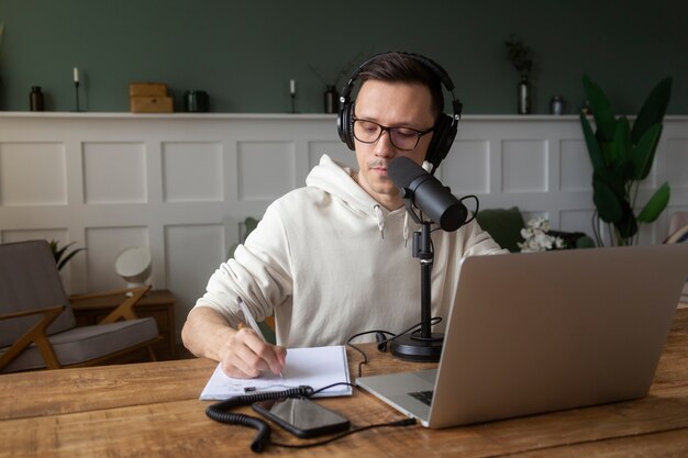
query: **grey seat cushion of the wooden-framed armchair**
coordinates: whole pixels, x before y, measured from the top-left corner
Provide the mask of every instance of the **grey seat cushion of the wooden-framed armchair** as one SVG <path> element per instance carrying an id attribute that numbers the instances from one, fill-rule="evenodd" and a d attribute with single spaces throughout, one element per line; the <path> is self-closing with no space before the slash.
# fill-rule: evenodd
<path id="1" fill-rule="evenodd" d="M 62 365 L 75 365 L 133 347 L 157 337 L 153 317 L 119 321 L 110 324 L 75 327 L 49 337 Z M 4 353 L 7 348 L 0 350 Z M 4 372 L 42 369 L 45 361 L 35 345 L 31 345 L 4 368 Z"/>

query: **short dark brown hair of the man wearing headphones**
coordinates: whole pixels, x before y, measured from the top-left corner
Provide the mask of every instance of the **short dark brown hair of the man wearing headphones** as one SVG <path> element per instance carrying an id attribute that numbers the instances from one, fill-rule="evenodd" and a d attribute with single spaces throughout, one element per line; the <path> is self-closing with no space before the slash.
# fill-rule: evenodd
<path id="1" fill-rule="evenodd" d="M 381 54 L 360 69 L 358 79 L 364 82 L 373 79 L 388 82 L 421 83 L 430 89 L 431 109 L 435 120 L 444 111 L 442 80 L 421 58 L 412 57 L 406 53 Z"/>

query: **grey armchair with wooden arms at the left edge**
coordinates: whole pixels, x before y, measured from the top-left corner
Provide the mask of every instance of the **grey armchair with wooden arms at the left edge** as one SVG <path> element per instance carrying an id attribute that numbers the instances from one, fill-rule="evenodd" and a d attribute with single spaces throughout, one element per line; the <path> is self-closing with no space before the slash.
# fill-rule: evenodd
<path id="1" fill-rule="evenodd" d="M 53 253 L 45 241 L 0 244 L 0 372 L 90 366 L 160 339 L 154 319 L 133 310 L 149 287 L 131 292 L 100 324 L 76 327 Z"/>

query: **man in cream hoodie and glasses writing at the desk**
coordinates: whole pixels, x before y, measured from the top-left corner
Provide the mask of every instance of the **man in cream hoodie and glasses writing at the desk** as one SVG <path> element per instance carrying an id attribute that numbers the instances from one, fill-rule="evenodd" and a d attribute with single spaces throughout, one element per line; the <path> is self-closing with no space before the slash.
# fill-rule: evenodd
<path id="1" fill-rule="evenodd" d="M 358 171 L 323 156 L 306 188 L 275 201 L 258 227 L 208 283 L 181 337 L 225 373 L 279 373 L 286 349 L 249 328 L 237 298 L 258 321 L 275 315 L 277 343 L 343 344 L 369 329 L 401 332 L 420 321 L 420 265 L 408 244 L 420 226 L 387 167 L 396 157 L 423 164 L 442 113 L 440 77 L 422 59 L 380 55 L 359 69 L 351 125 Z M 464 256 L 503 250 L 471 222 L 433 233 L 432 314 L 447 316 Z"/>

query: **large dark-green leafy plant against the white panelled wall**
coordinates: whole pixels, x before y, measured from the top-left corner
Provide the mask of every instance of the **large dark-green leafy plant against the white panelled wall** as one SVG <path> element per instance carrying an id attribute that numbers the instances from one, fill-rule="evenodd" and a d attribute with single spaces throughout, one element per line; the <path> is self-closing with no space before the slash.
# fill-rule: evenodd
<path id="1" fill-rule="evenodd" d="M 662 135 L 662 120 L 672 94 L 672 79 L 663 79 L 650 93 L 633 126 L 626 116 L 617 116 L 602 89 L 588 76 L 582 86 L 595 119 L 596 131 L 585 113 L 580 125 L 592 161 L 592 231 L 598 246 L 602 246 L 599 221 L 607 223 L 614 245 L 637 242 L 639 225 L 652 223 L 669 202 L 669 186 L 662 185 L 635 213 L 637 191 L 652 168 Z"/>

